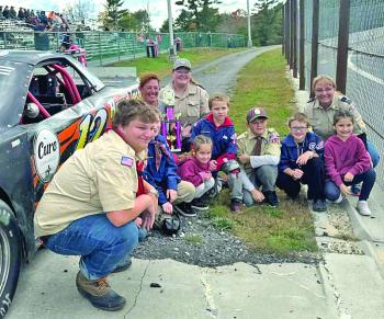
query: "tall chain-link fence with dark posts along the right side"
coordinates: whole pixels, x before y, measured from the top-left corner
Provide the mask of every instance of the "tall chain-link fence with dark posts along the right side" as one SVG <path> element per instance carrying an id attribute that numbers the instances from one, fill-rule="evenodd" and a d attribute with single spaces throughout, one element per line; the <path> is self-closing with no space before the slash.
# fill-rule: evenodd
<path id="1" fill-rule="evenodd" d="M 292 3 L 292 1 L 294 1 Z M 304 69 L 301 72 L 305 89 L 310 91 L 312 60 L 316 30 L 314 26 L 314 8 L 318 8 L 318 52 L 315 73 L 329 75 L 337 78 L 338 35 L 340 26 L 340 5 L 346 0 L 289 0 L 285 5 L 304 12 L 303 21 L 297 21 L 297 29 L 290 26 L 286 36 L 297 36 L 300 27 L 304 27 Z M 354 102 L 369 127 L 369 139 L 377 148 L 381 162 L 376 168 L 377 183 L 384 187 L 384 1 L 383 0 L 349 0 L 348 59 L 346 94 Z M 292 5 L 292 7 L 291 7 Z M 302 8 L 301 8 L 302 7 Z M 286 9 L 285 9 L 286 10 Z M 287 11 L 284 11 L 286 15 Z M 290 14 L 290 12 L 289 12 Z M 297 14 L 298 16 L 298 14 Z M 285 16 L 287 19 L 287 16 Z M 316 25 L 315 25 L 316 27 Z M 291 53 L 292 47 L 286 47 Z M 298 42 L 297 42 L 298 43 Z M 296 54 L 300 52 L 296 48 Z M 285 53 L 286 54 L 286 53 Z M 291 66 L 292 67 L 292 66 Z"/>

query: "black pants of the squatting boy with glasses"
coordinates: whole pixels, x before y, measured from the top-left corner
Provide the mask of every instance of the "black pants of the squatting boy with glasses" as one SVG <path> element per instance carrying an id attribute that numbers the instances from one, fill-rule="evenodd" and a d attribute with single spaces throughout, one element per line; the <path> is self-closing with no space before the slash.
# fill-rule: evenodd
<path id="1" fill-rule="evenodd" d="M 294 180 L 292 176 L 279 172 L 276 186 L 283 190 L 290 197 L 296 197 L 300 193 L 301 183 L 308 185 L 308 200 L 325 200 L 325 169 L 320 158 L 315 157 L 300 168 L 304 174 L 300 180 Z"/>

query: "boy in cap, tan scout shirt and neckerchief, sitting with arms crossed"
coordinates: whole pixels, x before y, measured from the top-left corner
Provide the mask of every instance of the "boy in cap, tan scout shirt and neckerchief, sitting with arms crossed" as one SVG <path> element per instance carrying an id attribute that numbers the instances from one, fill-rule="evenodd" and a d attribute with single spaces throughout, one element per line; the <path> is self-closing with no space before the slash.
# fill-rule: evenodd
<path id="1" fill-rule="evenodd" d="M 250 206 L 255 202 L 264 202 L 278 206 L 275 193 L 278 164 L 280 161 L 280 137 L 274 128 L 268 128 L 268 116 L 263 109 L 252 107 L 247 113 L 248 130 L 237 139 L 237 158 L 241 163 L 255 190 L 237 190 L 242 202 Z M 262 189 L 262 194 L 258 189 Z"/>

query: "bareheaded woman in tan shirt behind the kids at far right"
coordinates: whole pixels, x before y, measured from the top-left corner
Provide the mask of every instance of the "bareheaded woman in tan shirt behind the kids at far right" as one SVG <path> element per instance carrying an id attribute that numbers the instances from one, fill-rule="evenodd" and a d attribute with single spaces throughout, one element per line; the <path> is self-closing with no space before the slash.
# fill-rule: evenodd
<path id="1" fill-rule="evenodd" d="M 353 115 L 353 133 L 364 143 L 371 156 L 373 167 L 376 167 L 380 155 L 374 145 L 366 139 L 366 126 L 358 109 L 350 99 L 336 91 L 336 83 L 329 76 L 318 76 L 314 79 L 312 90 L 315 96 L 310 99 L 304 113 L 308 116 L 313 130 L 324 140 L 335 134 L 334 115 L 337 111 L 349 111 Z M 353 194 L 359 193 L 359 189 L 352 185 Z"/>

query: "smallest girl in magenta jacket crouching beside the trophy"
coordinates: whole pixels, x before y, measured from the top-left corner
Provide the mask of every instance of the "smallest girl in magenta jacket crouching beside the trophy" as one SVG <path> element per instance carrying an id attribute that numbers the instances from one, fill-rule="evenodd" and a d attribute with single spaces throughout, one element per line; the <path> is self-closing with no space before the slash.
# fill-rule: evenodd
<path id="1" fill-rule="evenodd" d="M 194 200 L 191 203 L 191 207 L 196 210 L 208 209 L 206 201 L 202 201 L 201 197 L 215 184 L 210 170 L 211 156 L 211 138 L 197 135 L 193 140 L 193 156 L 178 168 L 181 180 L 191 182 L 196 187 Z"/>

